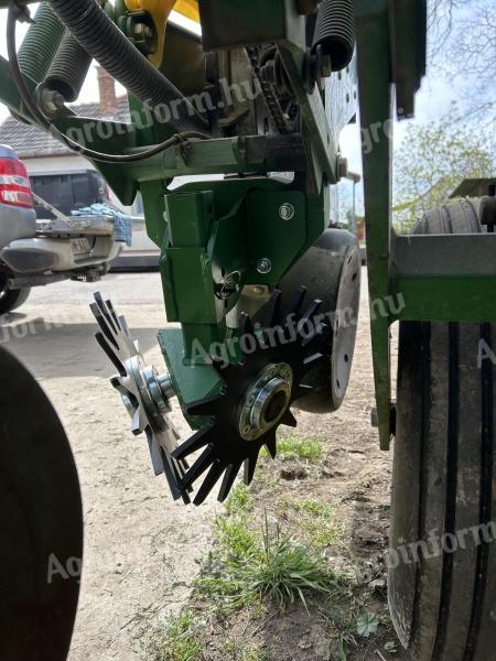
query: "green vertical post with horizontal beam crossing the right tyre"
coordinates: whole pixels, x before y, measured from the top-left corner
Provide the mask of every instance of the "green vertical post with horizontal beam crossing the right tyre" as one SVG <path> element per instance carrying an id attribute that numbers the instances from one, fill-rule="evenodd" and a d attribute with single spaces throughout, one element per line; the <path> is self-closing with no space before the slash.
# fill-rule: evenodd
<path id="1" fill-rule="evenodd" d="M 379 440 L 391 440 L 390 325 L 396 321 L 495 322 L 494 235 L 400 237 L 391 226 L 393 101 L 410 117 L 425 73 L 424 0 L 356 0 L 371 345 Z M 386 129 L 386 130 L 385 130 Z M 391 310 L 380 302 L 393 302 Z M 379 304 L 378 304 L 379 303 Z M 378 314 L 382 312 L 382 314 Z"/>

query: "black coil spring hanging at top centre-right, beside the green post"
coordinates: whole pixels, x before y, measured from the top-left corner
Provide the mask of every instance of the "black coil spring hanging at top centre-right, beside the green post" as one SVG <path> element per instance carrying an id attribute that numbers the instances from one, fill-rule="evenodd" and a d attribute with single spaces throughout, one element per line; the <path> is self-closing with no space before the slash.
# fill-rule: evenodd
<path id="1" fill-rule="evenodd" d="M 331 56 L 333 72 L 341 72 L 352 62 L 355 50 L 353 0 L 323 0 L 316 17 L 313 47 L 322 47 Z"/>

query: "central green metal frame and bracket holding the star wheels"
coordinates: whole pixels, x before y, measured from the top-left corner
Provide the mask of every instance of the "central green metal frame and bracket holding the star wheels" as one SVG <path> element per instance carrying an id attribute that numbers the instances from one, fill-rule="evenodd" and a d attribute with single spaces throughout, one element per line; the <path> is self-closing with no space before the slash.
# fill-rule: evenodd
<path id="1" fill-rule="evenodd" d="M 117 21 L 123 11 L 123 3 L 117 3 Z M 225 30 L 233 11 L 242 34 Z M 168 321 L 181 324 L 181 328 L 162 330 L 159 340 L 182 403 L 222 387 L 217 372 L 197 359 L 195 346 L 208 350 L 212 344 L 230 342 L 236 328 L 228 327 L 226 317 L 242 286 L 276 285 L 324 231 L 330 219 L 328 184 L 338 178 L 338 137 L 356 113 L 356 62 L 347 72 L 332 75 L 325 95 L 317 86 L 309 88 L 305 18 L 293 0 L 202 0 L 201 12 L 204 43 L 209 34 L 215 36 L 215 23 L 217 34 L 231 39 L 226 45 L 239 47 L 245 40 L 260 39 L 278 43 L 301 108 L 302 131 L 283 139 L 217 138 L 190 142 L 186 149 L 177 145 L 137 163 L 95 163 L 123 204 L 130 205 L 138 191 L 142 194 L 148 234 L 161 248 Z M 37 83 L 28 80 L 31 90 Z M 32 121 L 3 58 L 0 99 Z M 170 127 L 136 98 L 130 97 L 129 105 L 130 124 L 76 117 L 69 110 L 54 123 L 71 137 L 84 137 L 88 147 L 110 153 L 133 153 L 171 137 Z M 292 183 L 267 176 L 288 170 L 296 171 Z M 168 189 L 173 177 L 197 174 L 237 178 Z M 290 220 L 280 214 L 283 205 L 294 208 Z M 270 260 L 270 273 L 258 272 L 262 258 Z M 231 272 L 237 274 L 240 291 L 222 300 L 216 292 Z"/>

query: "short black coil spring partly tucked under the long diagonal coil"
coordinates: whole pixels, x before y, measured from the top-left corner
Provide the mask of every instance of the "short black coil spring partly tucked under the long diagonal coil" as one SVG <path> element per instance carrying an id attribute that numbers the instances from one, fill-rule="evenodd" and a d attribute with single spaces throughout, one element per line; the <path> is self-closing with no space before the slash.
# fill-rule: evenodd
<path id="1" fill-rule="evenodd" d="M 66 102 L 75 101 L 90 64 L 91 56 L 79 45 L 76 37 L 66 31 L 48 73 L 39 87 L 39 94 L 42 95 L 45 89 L 57 91 Z"/>

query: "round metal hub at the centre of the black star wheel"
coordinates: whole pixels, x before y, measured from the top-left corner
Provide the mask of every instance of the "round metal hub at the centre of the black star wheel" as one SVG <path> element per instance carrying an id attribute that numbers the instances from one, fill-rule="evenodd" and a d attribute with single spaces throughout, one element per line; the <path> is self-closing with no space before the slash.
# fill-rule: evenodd
<path id="1" fill-rule="evenodd" d="M 268 365 L 247 390 L 239 410 L 239 435 L 256 441 L 284 415 L 293 387 L 293 370 L 285 362 Z"/>

